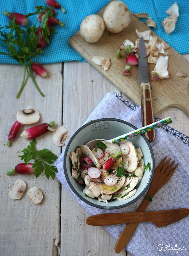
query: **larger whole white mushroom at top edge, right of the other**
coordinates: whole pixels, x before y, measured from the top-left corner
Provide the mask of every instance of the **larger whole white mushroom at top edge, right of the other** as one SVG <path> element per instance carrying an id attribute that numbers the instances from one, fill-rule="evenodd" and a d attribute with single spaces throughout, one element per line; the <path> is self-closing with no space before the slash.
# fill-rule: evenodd
<path id="1" fill-rule="evenodd" d="M 119 33 L 129 25 L 131 13 L 122 1 L 112 1 L 104 10 L 103 20 L 107 30 Z"/>

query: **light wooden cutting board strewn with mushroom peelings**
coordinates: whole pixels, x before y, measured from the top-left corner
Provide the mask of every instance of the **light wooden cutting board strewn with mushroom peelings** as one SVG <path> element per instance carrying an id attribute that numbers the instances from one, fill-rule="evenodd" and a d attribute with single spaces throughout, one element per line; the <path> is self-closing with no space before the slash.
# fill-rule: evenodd
<path id="1" fill-rule="evenodd" d="M 103 16 L 104 8 L 97 14 Z M 177 24 L 176 24 L 177 26 Z M 138 66 L 131 67 L 131 75 L 123 76 L 123 71 L 126 66 L 126 53 L 123 53 L 122 57 L 116 59 L 116 51 L 119 49 L 119 45 L 123 43 L 125 39 L 131 40 L 133 43 L 138 38 L 136 34 L 138 31 L 146 31 L 150 28 L 142 23 L 138 18 L 131 14 L 131 22 L 129 26 L 122 32 L 113 34 L 105 31 L 96 43 L 87 43 L 80 36 L 77 31 L 70 39 L 70 46 L 79 53 L 87 62 L 89 62 L 95 69 L 97 69 L 104 77 L 106 77 L 115 87 L 121 92 L 126 94 L 128 98 L 132 99 L 138 106 L 141 105 L 140 96 L 140 83 Z M 163 40 L 151 31 L 151 35 L 157 36 L 158 40 Z M 170 34 L 171 36 L 171 34 Z M 146 41 L 148 42 L 148 41 Z M 166 50 L 168 52 L 168 71 L 170 78 L 161 79 L 157 81 L 151 81 L 151 95 L 154 114 L 162 111 L 167 107 L 178 107 L 183 110 L 189 116 L 189 62 L 175 51 L 172 47 Z M 108 71 L 104 71 L 102 66 L 94 64 L 91 60 L 91 56 L 98 55 L 111 59 L 111 66 Z M 162 55 L 159 53 L 158 57 Z M 148 63 L 148 71 L 154 70 L 155 64 Z M 188 77 L 177 77 L 176 73 L 186 73 Z"/>

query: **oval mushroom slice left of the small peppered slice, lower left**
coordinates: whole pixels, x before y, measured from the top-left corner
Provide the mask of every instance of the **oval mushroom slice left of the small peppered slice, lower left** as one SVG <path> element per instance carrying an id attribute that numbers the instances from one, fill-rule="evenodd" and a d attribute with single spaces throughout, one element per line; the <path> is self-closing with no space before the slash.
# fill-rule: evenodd
<path id="1" fill-rule="evenodd" d="M 22 198 L 26 189 L 26 183 L 22 179 L 16 179 L 11 190 L 8 192 L 9 197 L 12 200 Z"/>

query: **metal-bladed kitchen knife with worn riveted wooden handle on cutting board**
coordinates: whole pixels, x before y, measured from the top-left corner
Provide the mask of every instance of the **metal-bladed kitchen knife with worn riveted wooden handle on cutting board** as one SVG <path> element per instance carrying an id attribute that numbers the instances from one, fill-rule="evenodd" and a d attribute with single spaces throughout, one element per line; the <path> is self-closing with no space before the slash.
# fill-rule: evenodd
<path id="1" fill-rule="evenodd" d="M 154 123 L 154 115 L 151 101 L 151 87 L 148 76 L 148 63 L 146 57 L 146 47 L 143 37 L 139 41 L 139 82 L 141 83 L 141 114 L 142 126 Z M 146 138 L 151 142 L 155 139 L 155 131 L 145 133 Z"/>

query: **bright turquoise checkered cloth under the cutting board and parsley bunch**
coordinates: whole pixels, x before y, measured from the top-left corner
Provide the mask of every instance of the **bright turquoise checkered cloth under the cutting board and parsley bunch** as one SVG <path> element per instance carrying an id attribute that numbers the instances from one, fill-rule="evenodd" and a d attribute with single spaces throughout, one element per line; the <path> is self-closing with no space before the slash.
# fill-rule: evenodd
<path id="1" fill-rule="evenodd" d="M 156 22 L 157 29 L 154 30 L 162 39 L 167 41 L 180 54 L 189 53 L 189 1 L 177 0 L 179 6 L 179 17 L 175 26 L 175 30 L 167 35 L 161 26 L 162 20 L 168 15 L 166 10 L 174 3 L 174 0 L 123 0 L 129 7 L 131 12 L 148 12 L 149 16 Z M 43 55 L 33 58 L 41 64 L 56 63 L 62 61 L 84 61 L 68 44 L 69 38 L 79 30 L 81 21 L 90 14 L 97 13 L 102 7 L 108 3 L 108 0 L 59 0 L 59 3 L 66 9 L 63 14 L 61 9 L 56 9 L 56 17 L 63 21 L 65 27 L 56 26 L 58 34 L 51 34 L 50 44 L 43 50 Z M 2 15 L 4 10 L 8 12 L 19 12 L 27 14 L 35 11 L 36 5 L 45 4 L 45 0 L 4 0 L 0 6 L 0 24 L 6 26 L 9 18 Z M 32 26 L 37 19 L 37 15 L 29 17 L 29 25 Z M 141 19 L 145 22 L 146 19 Z M 38 26 L 40 23 L 38 23 Z M 6 29 L 5 29 L 6 30 Z M 4 43 L 0 41 L 0 52 L 7 52 Z M 17 64 L 10 56 L 0 55 L 0 63 Z"/>

